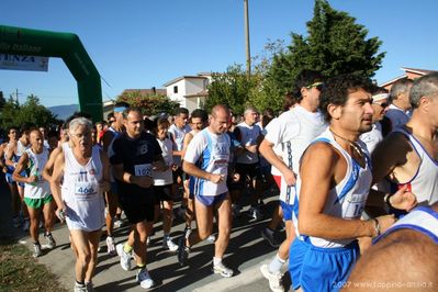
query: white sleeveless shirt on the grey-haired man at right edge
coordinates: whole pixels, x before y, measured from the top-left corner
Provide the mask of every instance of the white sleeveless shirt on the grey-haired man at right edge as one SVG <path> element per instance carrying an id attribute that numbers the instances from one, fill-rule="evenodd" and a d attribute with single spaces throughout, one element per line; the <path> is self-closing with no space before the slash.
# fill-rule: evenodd
<path id="1" fill-rule="evenodd" d="M 406 130 L 397 127 L 394 132 L 409 139 L 422 160 L 415 176 L 409 181 L 400 182 L 398 187 L 408 184 L 408 190 L 415 194 L 419 205 L 433 205 L 438 201 L 438 161 L 430 157 L 414 135 Z"/>

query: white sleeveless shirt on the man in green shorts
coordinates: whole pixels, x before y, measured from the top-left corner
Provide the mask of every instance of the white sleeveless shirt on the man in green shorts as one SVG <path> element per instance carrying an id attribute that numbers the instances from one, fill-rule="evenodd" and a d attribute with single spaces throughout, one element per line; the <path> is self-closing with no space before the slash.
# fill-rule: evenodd
<path id="1" fill-rule="evenodd" d="M 37 176 L 38 180 L 33 183 L 24 183 L 24 198 L 44 199 L 50 194 L 50 186 L 42 176 L 44 166 L 48 160 L 48 150 L 46 147 L 43 147 L 41 154 L 35 154 L 29 148 L 25 153 L 29 157 L 30 176 Z"/>

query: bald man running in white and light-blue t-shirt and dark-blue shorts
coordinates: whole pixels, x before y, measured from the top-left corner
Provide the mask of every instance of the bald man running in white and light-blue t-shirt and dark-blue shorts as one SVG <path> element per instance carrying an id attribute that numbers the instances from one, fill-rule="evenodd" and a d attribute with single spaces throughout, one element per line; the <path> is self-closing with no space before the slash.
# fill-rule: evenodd
<path id="1" fill-rule="evenodd" d="M 232 229 L 232 203 L 226 186 L 231 138 L 226 133 L 229 122 L 229 109 L 226 105 L 213 106 L 210 125 L 198 133 L 186 151 L 183 170 L 196 177 L 194 190 L 198 228 L 187 238 L 179 240 L 178 261 L 186 265 L 190 247 L 206 239 L 213 228 L 213 214 L 217 211 L 218 236 L 215 242 L 213 272 L 223 277 L 232 277 L 233 270 L 222 259 L 229 242 Z"/>

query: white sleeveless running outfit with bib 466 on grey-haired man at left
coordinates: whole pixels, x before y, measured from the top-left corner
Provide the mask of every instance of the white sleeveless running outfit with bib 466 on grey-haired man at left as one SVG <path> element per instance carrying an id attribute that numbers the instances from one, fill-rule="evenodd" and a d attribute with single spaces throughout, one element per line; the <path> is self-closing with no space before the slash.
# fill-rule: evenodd
<path id="1" fill-rule="evenodd" d="M 70 147 L 64 148 L 65 167 L 61 187 L 67 205 L 66 222 L 69 229 L 92 232 L 104 224 L 104 202 L 99 181 L 103 177 L 100 151 L 92 148 L 90 160 L 81 166 Z"/>

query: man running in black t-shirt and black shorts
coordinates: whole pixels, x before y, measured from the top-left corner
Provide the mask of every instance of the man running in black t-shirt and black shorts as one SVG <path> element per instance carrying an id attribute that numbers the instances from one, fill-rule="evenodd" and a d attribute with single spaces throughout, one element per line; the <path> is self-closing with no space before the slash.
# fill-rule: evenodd
<path id="1" fill-rule="evenodd" d="M 156 138 L 144 132 L 142 112 L 127 109 L 123 119 L 126 133 L 114 141 L 111 164 L 119 183 L 120 204 L 132 224 L 132 232 L 116 250 L 122 268 L 130 270 L 134 249 L 138 268 L 136 280 L 142 288 L 150 288 L 154 281 L 146 269 L 146 239 L 154 224 L 153 167 L 164 169 L 165 162 Z"/>

